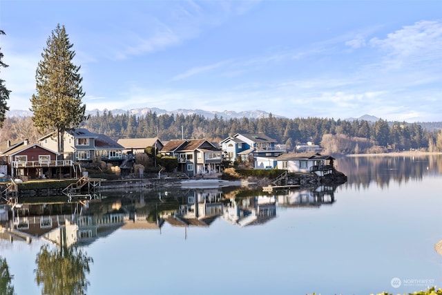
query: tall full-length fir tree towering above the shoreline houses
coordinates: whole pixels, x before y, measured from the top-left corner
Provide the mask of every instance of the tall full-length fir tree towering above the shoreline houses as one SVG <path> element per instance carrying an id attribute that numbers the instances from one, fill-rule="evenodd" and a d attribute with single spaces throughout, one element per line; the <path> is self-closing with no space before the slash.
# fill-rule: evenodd
<path id="1" fill-rule="evenodd" d="M 83 78 L 80 66 L 73 64 L 72 50 L 64 26 L 52 30 L 46 48 L 41 53 L 36 71 L 37 93 L 30 99 L 32 121 L 40 132 L 57 134 L 58 151 L 63 152 L 63 135 L 87 119 L 86 104 L 81 102 L 85 93 L 81 87 Z"/>

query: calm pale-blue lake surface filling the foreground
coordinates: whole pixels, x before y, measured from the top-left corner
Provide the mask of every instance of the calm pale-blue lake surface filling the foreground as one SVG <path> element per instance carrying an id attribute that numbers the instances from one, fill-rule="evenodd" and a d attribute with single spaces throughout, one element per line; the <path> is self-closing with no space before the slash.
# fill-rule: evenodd
<path id="1" fill-rule="evenodd" d="M 442 239 L 442 156 L 336 162 L 349 181 L 316 191 L 169 188 L 125 191 L 87 207 L 30 206 L 19 216 L 99 221 L 76 219 L 82 238 L 63 253 L 44 238 L 15 238 L 0 240 L 0 256 L 19 295 L 51 284 L 46 277 L 38 285 L 37 274 L 57 277 L 55 288 L 82 278 L 86 294 L 402 294 L 442 286 L 434 251 Z M 70 265 L 77 258 L 77 267 L 62 275 L 64 258 Z"/>

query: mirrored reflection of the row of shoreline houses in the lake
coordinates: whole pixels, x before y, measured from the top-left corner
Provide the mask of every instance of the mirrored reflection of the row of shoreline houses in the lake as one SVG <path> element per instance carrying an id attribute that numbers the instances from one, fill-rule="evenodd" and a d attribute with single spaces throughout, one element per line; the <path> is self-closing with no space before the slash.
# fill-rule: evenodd
<path id="1" fill-rule="evenodd" d="M 260 225 L 275 218 L 278 207 L 333 204 L 335 189 L 320 186 L 269 193 L 244 188 L 171 188 L 99 200 L 27 202 L 16 204 L 10 220 L 3 222 L 11 241 L 30 243 L 41 238 L 65 249 L 89 245 L 117 229 L 160 230 L 165 222 L 173 227 L 210 227 L 221 218 L 239 227 Z"/>

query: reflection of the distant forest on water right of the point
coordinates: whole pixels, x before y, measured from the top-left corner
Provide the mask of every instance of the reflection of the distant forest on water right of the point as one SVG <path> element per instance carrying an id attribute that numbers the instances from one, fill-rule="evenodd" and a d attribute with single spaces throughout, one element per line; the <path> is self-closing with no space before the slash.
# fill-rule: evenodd
<path id="1" fill-rule="evenodd" d="M 367 189 L 369 184 L 388 187 L 390 182 L 422 180 L 424 175 L 442 173 L 442 155 L 405 154 L 342 157 L 337 169 L 347 175 L 346 185 Z"/>

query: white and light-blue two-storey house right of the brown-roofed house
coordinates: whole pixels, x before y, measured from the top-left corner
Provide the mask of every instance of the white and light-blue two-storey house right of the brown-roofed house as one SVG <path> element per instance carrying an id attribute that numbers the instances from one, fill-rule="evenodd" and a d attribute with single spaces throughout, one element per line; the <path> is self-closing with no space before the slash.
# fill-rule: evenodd
<path id="1" fill-rule="evenodd" d="M 240 158 L 243 162 L 255 161 L 256 157 L 277 157 L 285 153 L 285 146 L 264 133 L 229 136 L 220 142 L 226 160 L 231 162 Z"/>

